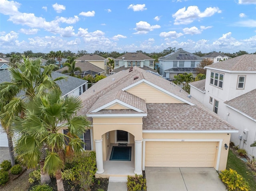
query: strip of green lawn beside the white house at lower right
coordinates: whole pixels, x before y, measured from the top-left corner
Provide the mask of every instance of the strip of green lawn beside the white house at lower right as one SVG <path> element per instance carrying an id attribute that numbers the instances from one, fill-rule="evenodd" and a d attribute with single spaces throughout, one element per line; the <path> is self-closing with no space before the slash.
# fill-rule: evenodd
<path id="1" fill-rule="evenodd" d="M 251 170 L 248 169 L 246 163 L 238 158 L 232 150 L 229 150 L 228 152 L 227 169 L 230 168 L 236 170 L 238 174 L 242 175 L 242 177 L 248 181 L 252 191 L 256 190 L 256 181 L 254 177 L 247 175 L 248 173 L 246 173 L 248 171 L 251 172 Z"/>

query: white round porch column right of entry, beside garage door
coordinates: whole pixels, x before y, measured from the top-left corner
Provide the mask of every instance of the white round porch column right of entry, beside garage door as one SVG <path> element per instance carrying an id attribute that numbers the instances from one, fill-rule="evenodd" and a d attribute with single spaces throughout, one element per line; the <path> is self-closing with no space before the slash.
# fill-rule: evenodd
<path id="1" fill-rule="evenodd" d="M 134 173 L 140 175 L 142 174 L 142 140 L 134 140 L 134 142 Z"/>

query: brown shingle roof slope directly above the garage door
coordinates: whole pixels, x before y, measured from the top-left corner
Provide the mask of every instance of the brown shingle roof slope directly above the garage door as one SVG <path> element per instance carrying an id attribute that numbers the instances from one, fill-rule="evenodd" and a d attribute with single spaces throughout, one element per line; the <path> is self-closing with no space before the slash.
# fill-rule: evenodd
<path id="1" fill-rule="evenodd" d="M 188 104 L 146 105 L 148 116 L 142 119 L 142 130 L 234 130 L 216 115 Z"/>

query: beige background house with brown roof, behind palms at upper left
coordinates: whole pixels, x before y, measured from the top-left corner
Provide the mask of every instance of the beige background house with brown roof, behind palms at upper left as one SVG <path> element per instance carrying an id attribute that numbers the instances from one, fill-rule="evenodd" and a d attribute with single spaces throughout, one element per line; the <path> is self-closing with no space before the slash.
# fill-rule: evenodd
<path id="1" fill-rule="evenodd" d="M 103 69 L 105 71 L 104 75 L 106 75 L 106 71 L 107 71 L 106 60 L 107 60 L 106 58 L 99 56 L 97 54 L 86 54 L 86 55 L 83 55 L 82 57 L 75 59 L 76 62 L 88 61 L 91 64 Z"/>

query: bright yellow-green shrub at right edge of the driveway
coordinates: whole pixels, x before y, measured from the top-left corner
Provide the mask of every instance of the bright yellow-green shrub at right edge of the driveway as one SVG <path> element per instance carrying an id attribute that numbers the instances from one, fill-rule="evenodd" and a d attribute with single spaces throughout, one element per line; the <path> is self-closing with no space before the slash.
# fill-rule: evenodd
<path id="1" fill-rule="evenodd" d="M 228 191 L 250 190 L 248 182 L 233 169 L 221 171 L 219 177 L 226 184 Z"/>

